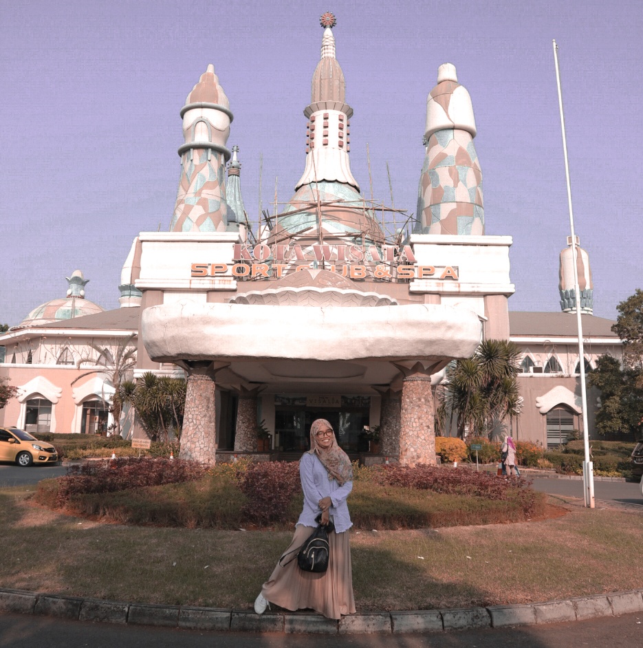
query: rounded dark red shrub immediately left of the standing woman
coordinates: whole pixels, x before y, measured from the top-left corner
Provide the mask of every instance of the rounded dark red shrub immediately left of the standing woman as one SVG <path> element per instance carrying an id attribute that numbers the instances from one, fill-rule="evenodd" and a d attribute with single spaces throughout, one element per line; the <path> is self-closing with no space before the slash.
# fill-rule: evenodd
<path id="1" fill-rule="evenodd" d="M 248 497 L 243 514 L 256 523 L 283 519 L 292 497 L 301 490 L 299 464 L 262 462 L 239 473 L 239 488 Z"/>

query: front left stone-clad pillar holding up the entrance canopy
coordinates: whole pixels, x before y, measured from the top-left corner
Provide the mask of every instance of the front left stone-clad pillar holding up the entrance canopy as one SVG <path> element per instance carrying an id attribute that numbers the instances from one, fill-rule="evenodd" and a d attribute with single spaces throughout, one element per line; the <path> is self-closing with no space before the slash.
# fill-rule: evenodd
<path id="1" fill-rule="evenodd" d="M 179 459 L 201 464 L 217 461 L 217 402 L 212 376 L 188 371 Z"/>

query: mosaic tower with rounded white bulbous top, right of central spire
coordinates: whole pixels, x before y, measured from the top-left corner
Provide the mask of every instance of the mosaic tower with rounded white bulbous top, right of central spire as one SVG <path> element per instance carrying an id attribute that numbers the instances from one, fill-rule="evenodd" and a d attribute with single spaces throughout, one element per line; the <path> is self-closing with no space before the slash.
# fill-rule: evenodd
<path id="1" fill-rule="evenodd" d="M 459 85 L 455 65 L 444 63 L 426 100 L 426 157 L 419 180 L 416 233 L 484 234 L 475 136 L 469 93 Z"/>

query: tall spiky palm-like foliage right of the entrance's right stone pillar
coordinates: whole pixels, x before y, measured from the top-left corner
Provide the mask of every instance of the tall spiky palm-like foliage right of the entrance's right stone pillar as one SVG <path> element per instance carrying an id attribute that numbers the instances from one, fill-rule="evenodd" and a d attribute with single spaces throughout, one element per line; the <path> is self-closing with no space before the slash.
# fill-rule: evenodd
<path id="1" fill-rule="evenodd" d="M 439 427 L 456 419 L 459 437 L 469 433 L 491 438 L 507 418 L 520 415 L 522 400 L 518 379 L 521 351 L 513 342 L 486 340 L 471 358 L 456 360 L 439 386 Z"/>

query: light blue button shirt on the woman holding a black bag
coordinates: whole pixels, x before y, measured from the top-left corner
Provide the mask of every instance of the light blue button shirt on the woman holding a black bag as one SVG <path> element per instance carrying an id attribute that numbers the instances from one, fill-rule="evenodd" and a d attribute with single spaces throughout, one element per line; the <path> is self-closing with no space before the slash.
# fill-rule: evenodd
<path id="1" fill-rule="evenodd" d="M 309 453 L 305 453 L 299 461 L 299 476 L 304 492 L 304 508 L 297 521 L 298 525 L 317 526 L 315 518 L 321 512 L 318 501 L 330 497 L 332 505 L 328 512 L 336 532 L 341 533 L 353 526 L 346 504 L 346 498 L 353 490 L 353 482 L 346 482 L 344 486 L 340 486 L 336 479 L 328 479 L 328 471 L 319 457 Z"/>

